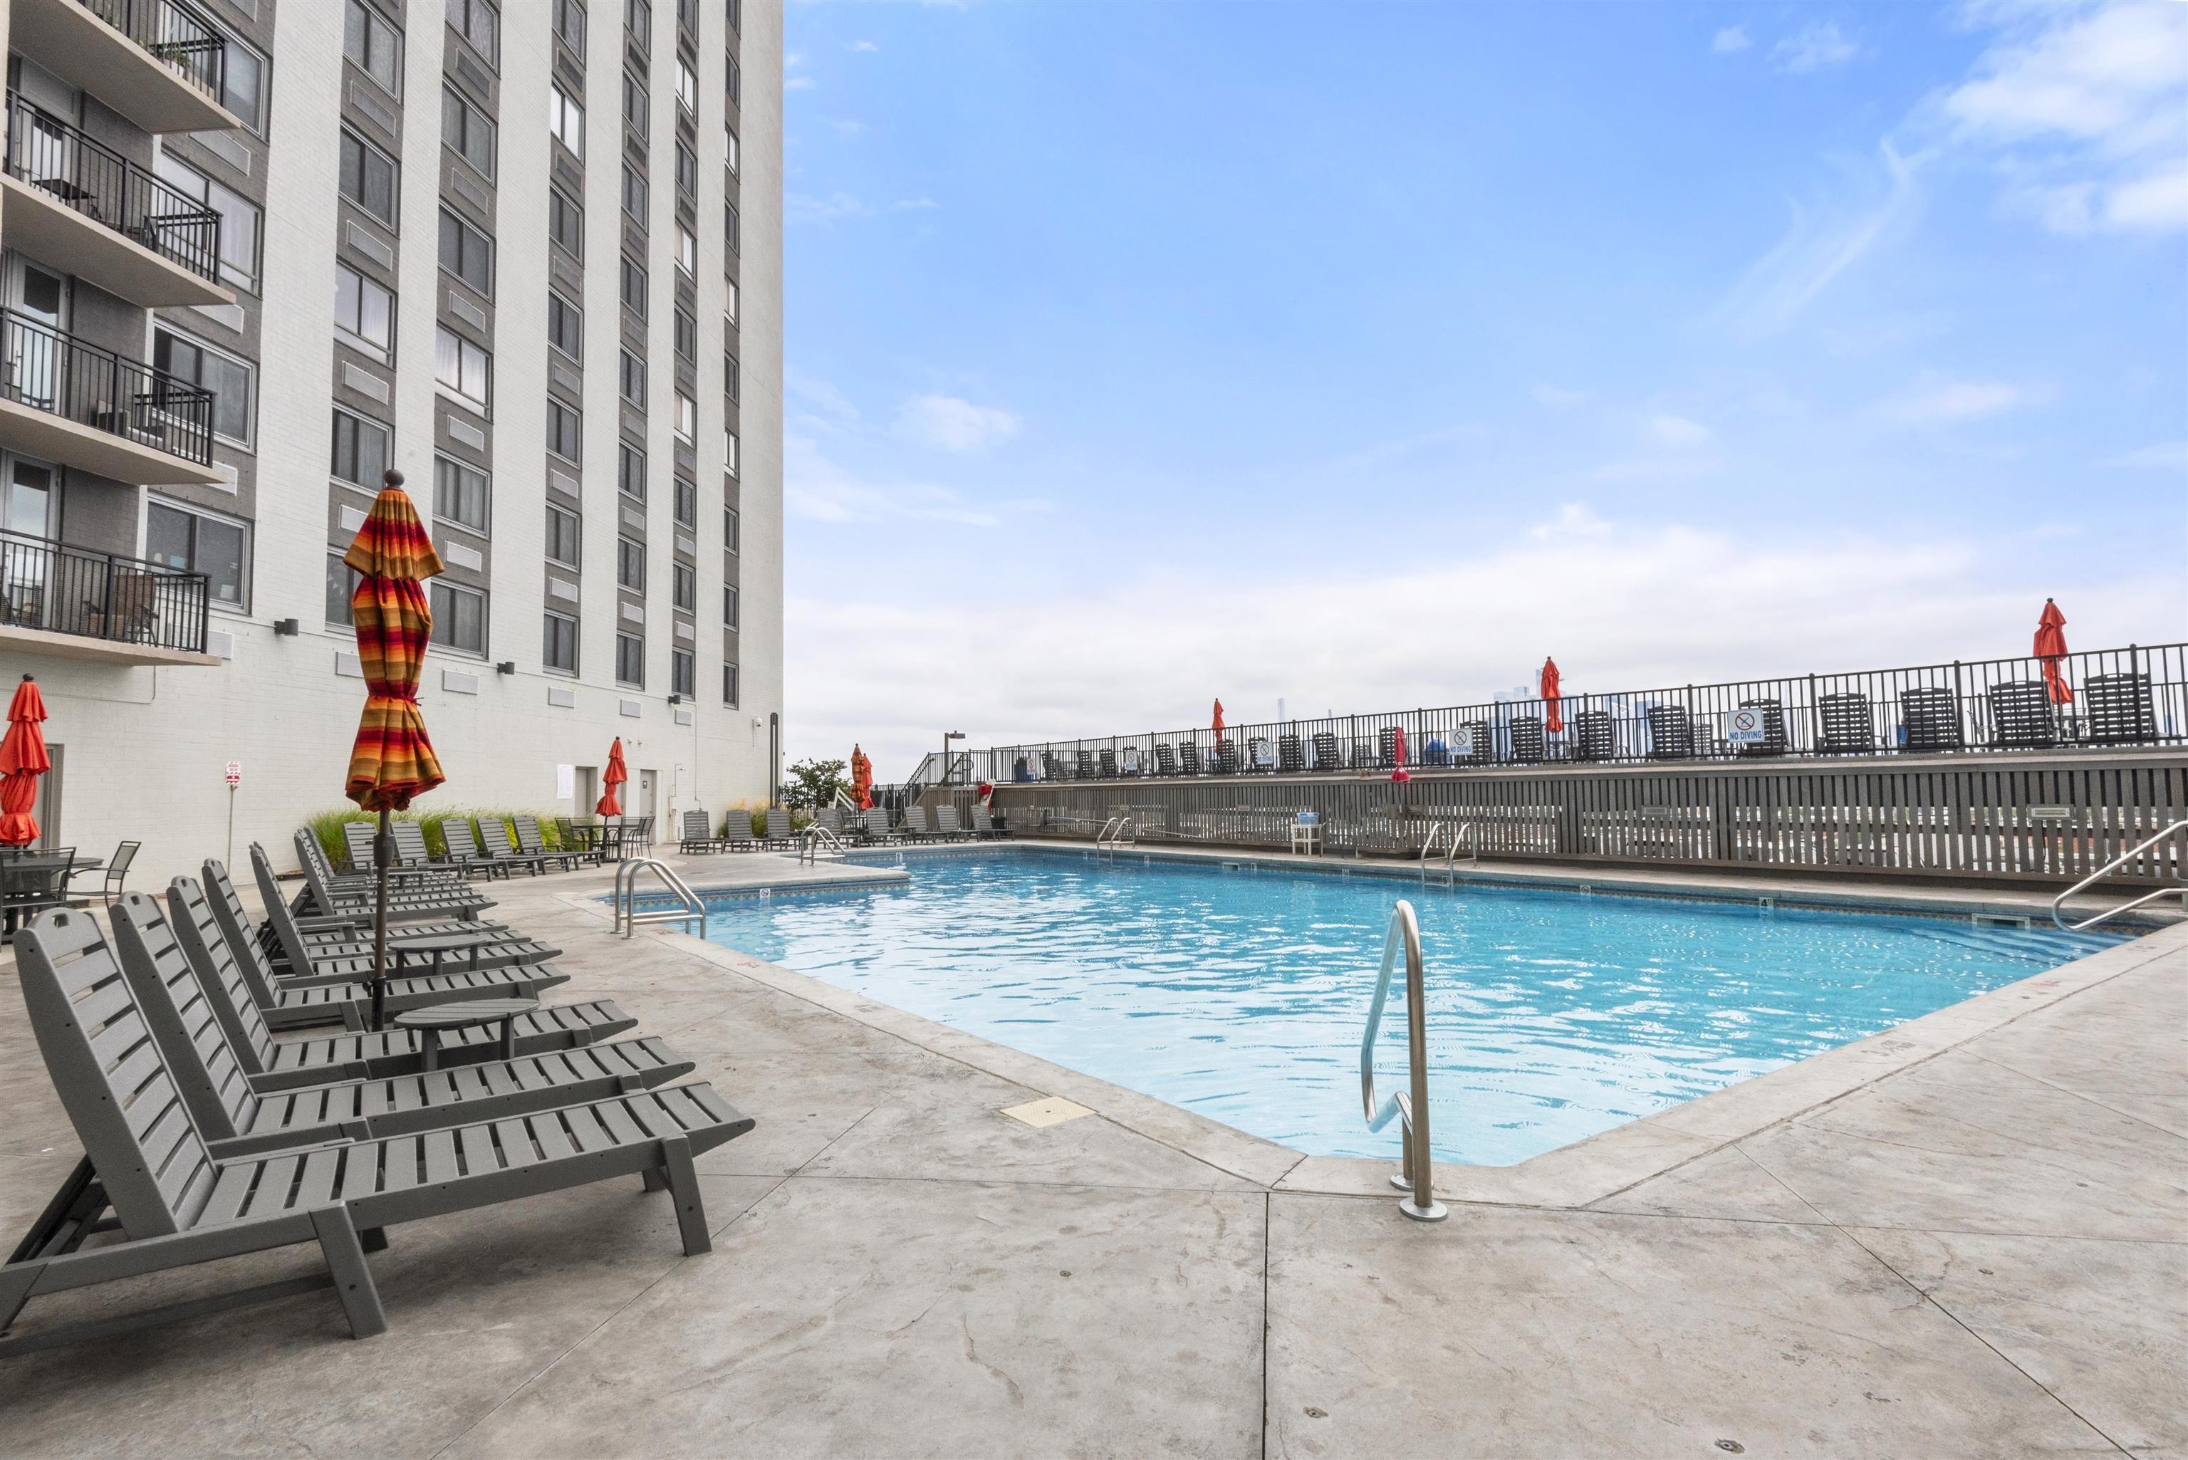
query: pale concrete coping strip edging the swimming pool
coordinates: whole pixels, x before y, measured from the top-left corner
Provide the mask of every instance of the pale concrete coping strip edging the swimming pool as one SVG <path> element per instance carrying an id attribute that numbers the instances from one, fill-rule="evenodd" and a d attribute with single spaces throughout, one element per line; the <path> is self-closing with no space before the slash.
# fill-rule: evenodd
<path id="1" fill-rule="evenodd" d="M 1044 843 L 1044 847 L 1046 845 L 1050 843 Z M 1079 845 L 1092 854 L 1090 845 Z M 891 851 L 904 851 L 906 856 L 950 856 L 963 851 L 987 854 L 993 849 L 998 847 L 895 847 Z M 1153 849 L 1133 849 L 1133 854 L 1140 851 Z M 1241 858 L 1221 854 L 1221 860 Z M 1278 865 L 1287 865 L 1287 869 L 1291 867 L 1284 858 L 1276 860 Z M 880 882 L 899 882 L 906 880 L 906 876 L 908 873 L 899 871 L 886 880 L 842 878 L 818 884 L 801 882 L 794 884 L 794 891 L 873 887 Z M 1370 876 L 1418 880 L 1418 876 L 1407 869 L 1385 869 Z M 1562 884 L 1549 882 L 1549 887 Z M 696 891 L 707 895 L 707 889 Z M 729 895 L 731 891 L 737 895 L 757 895 L 764 889 L 740 887 L 718 891 L 722 895 Z M 766 891 L 779 893 L 783 889 L 768 887 Z M 589 917 L 608 922 L 608 913 L 604 911 L 600 897 L 562 897 L 562 902 Z M 1746 902 L 1755 902 L 1755 897 L 1748 895 Z M 1877 900 L 1866 902 L 1871 908 L 1877 908 Z M 1781 906 L 1785 904 L 1788 902 L 1781 902 Z M 1969 906 L 1969 911 L 1980 913 L 1991 906 L 1995 904 L 1978 900 Z M 1921 900 L 1917 906 L 1890 911 L 1939 913 L 1945 908 L 1941 908 L 1934 900 Z M 2015 915 L 2026 915 L 2026 904 L 2020 904 Z M 1223 1171 L 1225 1175 L 1252 1182 L 1254 1186 L 1352 1197 L 1396 1195 L 1389 1184 L 1389 1175 L 1396 1171 L 1396 1158 L 1308 1156 L 1182 1105 L 1173 1105 L 1153 1094 L 1129 1090 L 1094 1075 L 1081 1075 L 1079 1070 L 1041 1059 L 1039 1055 L 1028 1055 L 982 1035 L 928 1020 L 906 1009 L 897 1009 L 895 1005 L 840 989 L 810 974 L 755 959 L 733 948 L 722 948 L 718 943 L 709 943 L 707 939 L 667 928 L 650 928 L 648 935 L 659 939 L 680 939 L 687 943 L 683 950 L 702 963 L 742 974 L 792 998 L 801 998 L 882 1033 L 891 1033 L 932 1055 L 954 1059 L 1039 1094 L 1061 1094 L 1063 1099 L 1085 1105 L 1101 1119 L 1192 1156 L 1195 1160 Z M 2041 974 L 2030 974 L 2028 978 L 1995 987 L 1987 994 L 1965 998 L 1945 1009 L 1923 1013 L 1864 1040 L 1809 1055 L 1807 1059 L 1799 1059 L 1783 1068 L 1755 1075 L 1691 1101 L 1683 1101 L 1669 1110 L 1626 1121 L 1623 1125 L 1615 1125 L 1606 1132 L 1597 1132 L 1595 1136 L 1543 1151 L 1540 1156 L 1529 1156 L 1527 1160 L 1510 1167 L 1435 1162 L 1435 1197 L 1442 1202 L 1486 1206 L 1588 1206 L 1613 1197 L 1628 1186 L 1676 1171 L 1691 1160 L 1709 1156 L 1711 1151 L 1735 1140 L 1744 1140 L 1770 1125 L 1842 1099 L 1875 1084 L 1877 1079 L 1928 1059 L 1936 1059 L 1967 1040 L 2002 1029 L 2028 1013 L 2048 1009 L 2063 998 L 2072 998 L 2074 994 L 2181 950 L 2188 950 L 2188 924 L 2173 924 L 2142 932 L 2131 941 L 2072 959 Z"/>

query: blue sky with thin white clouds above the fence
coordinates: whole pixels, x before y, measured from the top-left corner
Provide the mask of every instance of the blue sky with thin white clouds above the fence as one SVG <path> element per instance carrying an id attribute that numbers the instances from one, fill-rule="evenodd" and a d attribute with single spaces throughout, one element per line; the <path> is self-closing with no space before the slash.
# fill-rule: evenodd
<path id="1" fill-rule="evenodd" d="M 2184 637 L 2188 7 L 788 50 L 792 757 Z"/>

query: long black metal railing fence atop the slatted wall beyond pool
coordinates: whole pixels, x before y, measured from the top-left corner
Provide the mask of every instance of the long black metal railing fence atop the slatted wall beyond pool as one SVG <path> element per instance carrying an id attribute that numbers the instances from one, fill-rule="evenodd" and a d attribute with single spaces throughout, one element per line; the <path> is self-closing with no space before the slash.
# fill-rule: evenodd
<path id="1" fill-rule="evenodd" d="M 2050 670 L 2050 672 L 2048 672 Z M 2055 687 L 2057 685 L 2057 687 Z M 2070 696 L 2070 698 L 2063 698 Z M 1538 764 L 2050 751 L 2188 740 L 2188 646 L 1974 659 L 1558 700 L 1151 731 L 969 751 L 1004 784 Z M 952 781 L 958 777 L 954 775 Z"/>

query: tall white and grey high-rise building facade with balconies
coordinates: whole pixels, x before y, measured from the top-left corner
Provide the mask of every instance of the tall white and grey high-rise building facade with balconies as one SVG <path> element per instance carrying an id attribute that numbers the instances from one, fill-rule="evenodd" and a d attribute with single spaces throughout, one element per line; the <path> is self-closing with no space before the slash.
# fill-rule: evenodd
<path id="1" fill-rule="evenodd" d="M 341 806 L 341 552 L 389 468 L 446 565 L 435 806 L 584 812 L 615 738 L 630 812 L 766 801 L 779 4 L 0 13 L 0 674 L 50 714 L 44 843 L 142 841 L 153 887 L 289 862 Z"/>

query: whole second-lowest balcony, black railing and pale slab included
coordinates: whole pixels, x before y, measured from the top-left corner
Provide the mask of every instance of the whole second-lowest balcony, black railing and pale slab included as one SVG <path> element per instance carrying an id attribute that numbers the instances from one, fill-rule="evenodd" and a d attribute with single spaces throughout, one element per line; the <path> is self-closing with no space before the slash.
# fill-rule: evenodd
<path id="1" fill-rule="evenodd" d="M 0 447 L 131 486 L 221 482 L 212 392 L 0 309 Z"/>

